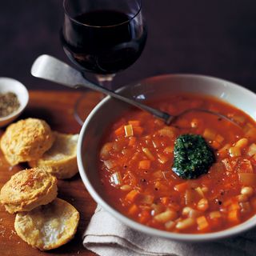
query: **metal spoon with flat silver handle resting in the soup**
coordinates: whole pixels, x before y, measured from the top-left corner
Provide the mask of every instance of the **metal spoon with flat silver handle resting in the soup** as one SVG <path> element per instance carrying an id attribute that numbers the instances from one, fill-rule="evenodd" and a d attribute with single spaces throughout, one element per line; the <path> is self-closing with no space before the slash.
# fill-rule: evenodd
<path id="1" fill-rule="evenodd" d="M 75 70 L 73 67 L 67 65 L 65 62 L 62 62 L 50 55 L 43 54 L 39 56 L 34 61 L 31 67 L 31 74 L 36 78 L 43 78 L 51 82 L 57 82 L 59 84 L 62 84 L 63 86 L 68 86 L 74 89 L 78 87 L 86 87 L 90 88 L 91 90 L 96 90 L 103 94 L 110 95 L 113 98 L 118 98 L 122 102 L 127 102 L 130 105 L 137 106 L 138 108 L 145 110 L 150 114 L 153 114 L 157 118 L 161 118 L 164 122 L 166 122 L 167 125 L 170 125 L 170 123 L 173 122 L 174 119 L 178 118 L 182 114 L 186 114 L 190 111 L 202 111 L 209 114 L 217 115 L 218 117 L 224 118 L 227 121 L 232 122 L 236 126 L 238 126 L 236 122 L 234 122 L 230 118 L 227 118 L 225 115 L 210 110 L 198 108 L 190 109 L 185 110 L 176 116 L 170 115 L 161 110 L 156 110 L 150 106 L 146 106 L 140 102 L 136 102 L 134 99 L 126 98 L 120 94 L 115 93 L 112 90 L 108 90 L 102 86 L 98 86 L 92 82 L 89 82 L 88 80 L 86 80 L 86 78 L 82 76 L 82 74 L 78 70 Z"/>

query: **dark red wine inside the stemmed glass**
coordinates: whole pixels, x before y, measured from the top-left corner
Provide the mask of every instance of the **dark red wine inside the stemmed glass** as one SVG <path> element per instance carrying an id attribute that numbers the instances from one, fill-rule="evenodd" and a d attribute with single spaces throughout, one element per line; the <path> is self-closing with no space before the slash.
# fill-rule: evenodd
<path id="1" fill-rule="evenodd" d="M 80 14 L 68 25 L 62 31 L 66 54 L 82 70 L 95 74 L 125 70 L 146 42 L 146 28 L 136 18 L 114 10 Z"/>

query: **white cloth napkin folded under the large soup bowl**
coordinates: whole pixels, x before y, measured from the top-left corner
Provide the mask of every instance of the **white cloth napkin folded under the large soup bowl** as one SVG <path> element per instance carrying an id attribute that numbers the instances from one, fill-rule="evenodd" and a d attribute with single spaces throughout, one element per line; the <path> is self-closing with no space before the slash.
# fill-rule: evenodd
<path id="1" fill-rule="evenodd" d="M 174 242 L 132 230 L 98 206 L 83 245 L 101 256 L 249 256 L 256 255 L 256 230 L 222 242 Z"/>

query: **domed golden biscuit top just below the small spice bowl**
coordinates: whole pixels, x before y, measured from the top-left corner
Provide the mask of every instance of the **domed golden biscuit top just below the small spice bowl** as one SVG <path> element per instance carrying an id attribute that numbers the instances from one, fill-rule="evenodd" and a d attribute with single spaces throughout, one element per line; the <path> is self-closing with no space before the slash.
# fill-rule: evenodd
<path id="1" fill-rule="evenodd" d="M 43 120 L 27 118 L 7 127 L 1 149 L 11 166 L 40 158 L 54 143 L 50 126 Z"/>

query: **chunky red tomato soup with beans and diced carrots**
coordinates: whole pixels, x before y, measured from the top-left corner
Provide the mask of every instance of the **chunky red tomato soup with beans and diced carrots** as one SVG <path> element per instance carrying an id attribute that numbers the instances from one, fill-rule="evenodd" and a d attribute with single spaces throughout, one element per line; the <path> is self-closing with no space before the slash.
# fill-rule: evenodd
<path id="1" fill-rule="evenodd" d="M 170 114 L 193 111 L 170 126 L 141 110 L 130 110 L 108 129 L 99 152 L 102 184 L 111 204 L 134 221 L 178 233 L 208 233 L 236 226 L 256 213 L 256 124 L 217 98 L 178 94 L 151 106 Z M 198 178 L 172 170 L 174 143 L 200 134 L 215 161 Z"/>

